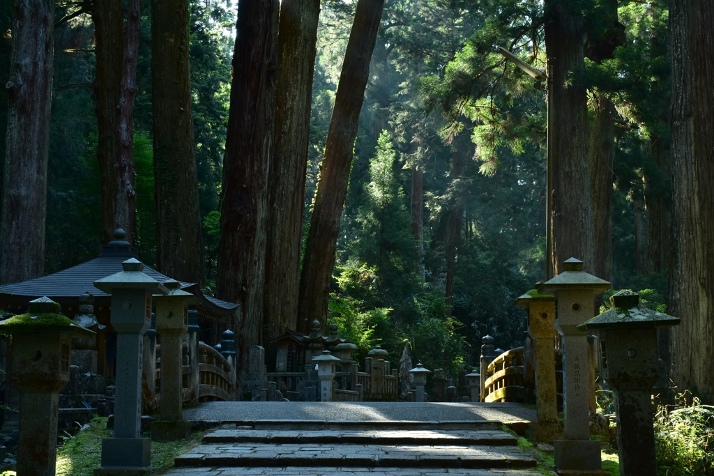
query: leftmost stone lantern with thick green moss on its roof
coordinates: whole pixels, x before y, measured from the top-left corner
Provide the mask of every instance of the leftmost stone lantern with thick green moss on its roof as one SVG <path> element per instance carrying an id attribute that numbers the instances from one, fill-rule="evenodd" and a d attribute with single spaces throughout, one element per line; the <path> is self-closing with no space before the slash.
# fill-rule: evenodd
<path id="1" fill-rule="evenodd" d="M 29 303 L 29 312 L 0 323 L 11 335 L 12 381 L 21 393 L 17 474 L 51 476 L 57 459 L 59 392 L 69 382 L 72 338 L 94 332 L 61 315 L 49 298 Z"/>

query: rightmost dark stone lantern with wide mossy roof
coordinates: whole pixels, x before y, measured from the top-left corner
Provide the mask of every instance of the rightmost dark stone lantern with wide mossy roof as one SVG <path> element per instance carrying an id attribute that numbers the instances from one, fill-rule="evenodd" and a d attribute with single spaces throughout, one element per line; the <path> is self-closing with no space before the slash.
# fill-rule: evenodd
<path id="1" fill-rule="evenodd" d="M 612 308 L 578 326 L 599 330 L 605 344 L 603 377 L 615 390 L 621 475 L 657 475 L 652 388 L 658 378 L 657 328 L 678 325 L 671 315 L 640 307 L 640 295 L 622 290 Z"/>

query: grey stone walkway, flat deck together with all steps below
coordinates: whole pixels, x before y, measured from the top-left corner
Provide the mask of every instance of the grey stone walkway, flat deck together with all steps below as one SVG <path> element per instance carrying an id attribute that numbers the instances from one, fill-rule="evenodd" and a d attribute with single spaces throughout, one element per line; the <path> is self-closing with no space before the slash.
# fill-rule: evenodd
<path id="1" fill-rule="evenodd" d="M 493 421 L 535 419 L 516 404 L 209 402 L 183 417 L 221 429 L 177 456 L 168 476 L 540 474 Z"/>

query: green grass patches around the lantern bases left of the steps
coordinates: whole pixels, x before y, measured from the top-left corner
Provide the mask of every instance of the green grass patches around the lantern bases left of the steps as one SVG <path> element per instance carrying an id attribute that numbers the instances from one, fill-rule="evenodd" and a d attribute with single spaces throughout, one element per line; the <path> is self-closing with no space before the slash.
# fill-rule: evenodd
<path id="1" fill-rule="evenodd" d="M 106 417 L 94 417 L 89 428 L 65 440 L 57 452 L 56 476 L 92 476 L 101 466 L 101 439 L 111 437 L 106 430 Z M 195 432 L 190 440 L 151 442 L 151 466 L 147 475 L 162 475 L 173 467 L 173 458 L 198 444 L 205 432 Z M 148 435 L 146 435 L 148 436 Z M 14 473 L 9 473 L 14 475 Z M 5 475 L 0 475 L 5 476 Z"/>

